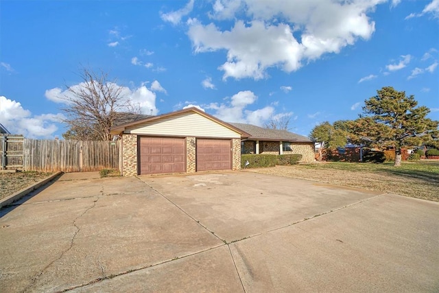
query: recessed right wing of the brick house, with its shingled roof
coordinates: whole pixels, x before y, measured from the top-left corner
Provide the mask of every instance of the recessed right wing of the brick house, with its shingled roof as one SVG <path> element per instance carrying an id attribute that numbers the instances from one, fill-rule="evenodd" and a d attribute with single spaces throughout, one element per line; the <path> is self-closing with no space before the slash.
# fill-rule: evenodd
<path id="1" fill-rule="evenodd" d="M 301 162 L 314 161 L 314 142 L 287 130 L 268 129 L 251 124 L 231 123 L 250 137 L 241 141 L 242 154 L 301 154 Z"/>

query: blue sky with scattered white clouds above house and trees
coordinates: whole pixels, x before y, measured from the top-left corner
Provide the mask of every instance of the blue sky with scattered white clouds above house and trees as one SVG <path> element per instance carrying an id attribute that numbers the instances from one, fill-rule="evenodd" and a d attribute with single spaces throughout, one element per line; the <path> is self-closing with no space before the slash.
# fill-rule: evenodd
<path id="1" fill-rule="evenodd" d="M 147 114 L 287 116 L 308 135 L 393 86 L 439 120 L 439 0 L 3 0 L 0 25 L 0 123 L 26 137 L 66 130 L 60 97 L 81 65 Z"/>

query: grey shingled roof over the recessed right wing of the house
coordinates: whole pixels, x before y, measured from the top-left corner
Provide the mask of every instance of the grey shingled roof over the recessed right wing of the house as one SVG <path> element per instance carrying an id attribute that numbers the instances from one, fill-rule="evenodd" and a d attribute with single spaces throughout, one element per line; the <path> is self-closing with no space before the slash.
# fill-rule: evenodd
<path id="1" fill-rule="evenodd" d="M 250 134 L 249 139 L 261 141 L 290 141 L 312 143 L 311 139 L 287 130 L 268 129 L 252 124 L 230 123 Z"/>

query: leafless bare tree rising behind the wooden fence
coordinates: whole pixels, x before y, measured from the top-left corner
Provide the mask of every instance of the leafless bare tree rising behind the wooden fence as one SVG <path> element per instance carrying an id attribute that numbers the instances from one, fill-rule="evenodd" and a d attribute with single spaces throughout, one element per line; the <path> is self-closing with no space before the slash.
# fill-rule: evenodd
<path id="1" fill-rule="evenodd" d="M 82 67 L 82 82 L 67 86 L 67 95 L 61 97 L 66 102 L 62 108 L 63 122 L 69 130 L 62 134 L 65 139 L 102 140 L 112 139 L 110 127 L 118 112 L 137 112 L 139 106 L 133 105 L 123 96 L 123 87 L 115 80 L 108 80 L 108 73 Z"/>

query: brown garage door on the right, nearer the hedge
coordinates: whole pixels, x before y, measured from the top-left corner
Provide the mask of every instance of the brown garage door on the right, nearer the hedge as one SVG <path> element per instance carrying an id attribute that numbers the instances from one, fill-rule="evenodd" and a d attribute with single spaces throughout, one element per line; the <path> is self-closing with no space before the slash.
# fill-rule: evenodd
<path id="1" fill-rule="evenodd" d="M 232 169 L 230 139 L 197 139 L 197 171 Z"/>

